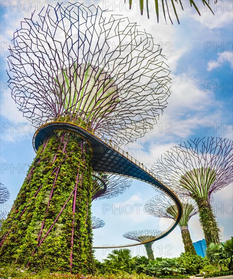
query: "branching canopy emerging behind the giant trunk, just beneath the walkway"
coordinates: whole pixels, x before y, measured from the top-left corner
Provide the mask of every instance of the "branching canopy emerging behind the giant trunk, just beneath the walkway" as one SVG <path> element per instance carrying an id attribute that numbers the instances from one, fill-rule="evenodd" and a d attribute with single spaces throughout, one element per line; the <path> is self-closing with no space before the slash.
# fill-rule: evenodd
<path id="1" fill-rule="evenodd" d="M 124 193 L 131 183 L 131 179 L 123 176 L 94 172 L 92 200 L 116 197 Z"/>

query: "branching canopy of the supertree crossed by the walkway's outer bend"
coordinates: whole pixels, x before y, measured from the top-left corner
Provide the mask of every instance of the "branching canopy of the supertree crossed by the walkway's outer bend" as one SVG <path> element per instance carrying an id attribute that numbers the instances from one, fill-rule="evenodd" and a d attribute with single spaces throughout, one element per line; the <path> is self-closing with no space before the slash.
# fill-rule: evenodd
<path id="1" fill-rule="evenodd" d="M 180 227 L 188 225 L 188 221 L 198 212 L 197 204 L 191 198 L 179 197 L 182 203 L 182 217 L 179 222 Z M 178 208 L 176 204 L 168 196 L 163 193 L 154 196 L 145 203 L 144 210 L 146 213 L 159 218 L 169 218 L 176 220 Z"/>

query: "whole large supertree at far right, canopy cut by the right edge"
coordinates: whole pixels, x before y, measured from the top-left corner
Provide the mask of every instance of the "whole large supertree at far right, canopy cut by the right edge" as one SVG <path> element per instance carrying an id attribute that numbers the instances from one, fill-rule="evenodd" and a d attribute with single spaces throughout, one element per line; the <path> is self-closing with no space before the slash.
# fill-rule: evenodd
<path id="1" fill-rule="evenodd" d="M 211 198 L 232 182 L 232 145 L 227 138 L 195 138 L 165 152 L 153 165 L 153 170 L 171 188 L 196 201 L 207 245 L 219 243 Z"/>

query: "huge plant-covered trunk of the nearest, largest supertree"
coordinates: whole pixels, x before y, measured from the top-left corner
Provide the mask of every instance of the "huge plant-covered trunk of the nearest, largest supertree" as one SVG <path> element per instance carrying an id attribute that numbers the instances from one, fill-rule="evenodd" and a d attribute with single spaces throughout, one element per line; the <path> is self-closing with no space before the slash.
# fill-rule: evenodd
<path id="1" fill-rule="evenodd" d="M 32 270 L 91 273 L 89 147 L 61 132 L 40 146 L 0 232 L 1 262 Z"/>

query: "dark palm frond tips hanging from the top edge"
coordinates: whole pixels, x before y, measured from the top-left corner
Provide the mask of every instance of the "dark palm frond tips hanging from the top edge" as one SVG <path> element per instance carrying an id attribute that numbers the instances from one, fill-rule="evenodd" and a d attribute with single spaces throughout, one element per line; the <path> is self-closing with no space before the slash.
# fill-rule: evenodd
<path id="1" fill-rule="evenodd" d="M 138 0 L 136 0 L 138 2 Z M 136 2 L 135 1 L 135 2 Z M 172 19 L 170 17 L 170 9 L 172 8 L 173 9 L 173 12 L 174 12 L 174 15 L 176 16 L 177 18 L 177 21 L 178 23 L 180 24 L 180 21 L 179 21 L 179 17 L 178 17 L 178 14 L 177 14 L 177 9 L 176 9 L 176 6 L 175 4 L 177 4 L 178 6 L 180 6 L 182 8 L 182 10 L 184 11 L 184 8 L 183 8 L 183 4 L 188 2 L 187 0 L 155 0 L 155 11 L 156 11 L 156 17 L 157 17 L 157 22 L 159 22 L 159 15 L 161 13 L 163 13 L 163 16 L 164 16 L 164 19 L 166 21 L 166 13 L 171 21 L 171 23 L 173 24 L 172 22 Z M 212 9 L 211 9 L 211 6 L 210 6 L 210 0 L 201 0 L 201 1 L 195 1 L 195 0 L 189 0 L 189 4 L 191 7 L 194 7 L 194 9 L 196 10 L 196 12 L 200 15 L 200 11 L 199 9 L 197 8 L 197 3 L 200 3 L 202 2 L 202 4 L 204 6 L 207 6 L 207 8 L 213 13 Z M 218 2 L 218 0 L 215 0 L 215 4 Z M 125 0 L 125 3 L 126 3 L 126 0 Z M 141 15 L 143 14 L 143 9 L 144 9 L 144 3 L 146 3 L 146 10 L 147 10 L 147 15 L 148 15 L 148 18 L 149 18 L 149 10 L 150 10 L 150 7 L 149 7 L 149 2 L 148 0 L 139 0 L 139 5 L 140 5 L 140 13 Z M 133 4 L 133 1 L 132 0 L 129 0 L 129 8 L 131 9 L 132 8 L 132 4 Z M 214 14 L 214 13 L 213 13 Z"/>

